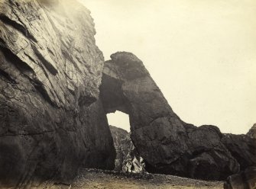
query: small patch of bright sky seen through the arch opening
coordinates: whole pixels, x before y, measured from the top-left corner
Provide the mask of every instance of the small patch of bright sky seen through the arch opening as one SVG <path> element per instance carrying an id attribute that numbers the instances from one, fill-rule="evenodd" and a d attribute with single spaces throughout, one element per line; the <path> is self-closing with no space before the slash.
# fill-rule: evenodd
<path id="1" fill-rule="evenodd" d="M 130 120 L 129 115 L 122 111 L 115 111 L 115 113 L 107 114 L 109 125 L 122 128 L 127 132 L 130 132 Z"/>

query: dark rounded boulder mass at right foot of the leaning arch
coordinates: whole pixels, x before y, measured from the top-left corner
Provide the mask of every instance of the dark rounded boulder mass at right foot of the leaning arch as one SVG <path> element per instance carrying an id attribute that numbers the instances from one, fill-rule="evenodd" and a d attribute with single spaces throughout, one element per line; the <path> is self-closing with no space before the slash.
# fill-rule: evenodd
<path id="1" fill-rule="evenodd" d="M 222 143 L 222 133 L 218 127 L 184 126 L 192 153 L 187 167 L 190 178 L 225 180 L 228 175 L 239 171 L 237 159 Z"/>

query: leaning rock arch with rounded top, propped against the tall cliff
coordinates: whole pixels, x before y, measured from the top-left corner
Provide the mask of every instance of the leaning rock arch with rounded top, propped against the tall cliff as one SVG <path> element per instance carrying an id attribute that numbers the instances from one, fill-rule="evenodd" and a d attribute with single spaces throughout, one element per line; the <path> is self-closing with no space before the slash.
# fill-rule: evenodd
<path id="1" fill-rule="evenodd" d="M 105 112 L 118 110 L 129 114 L 131 139 L 151 165 L 176 161 L 188 150 L 183 143 L 186 130 L 182 121 L 173 113 L 141 60 L 131 53 L 115 53 L 111 57 L 105 62 L 100 87 Z M 166 150 L 170 143 L 177 145 Z"/>

